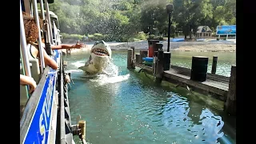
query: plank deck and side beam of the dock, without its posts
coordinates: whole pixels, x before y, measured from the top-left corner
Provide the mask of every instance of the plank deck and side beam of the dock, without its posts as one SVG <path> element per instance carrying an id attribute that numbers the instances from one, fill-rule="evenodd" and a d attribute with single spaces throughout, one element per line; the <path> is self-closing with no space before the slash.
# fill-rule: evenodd
<path id="1" fill-rule="evenodd" d="M 147 73 L 153 74 L 153 68 L 134 62 L 134 66 L 138 66 Z M 171 66 L 170 70 L 165 70 L 163 80 L 167 82 L 182 83 L 183 86 L 189 86 L 191 90 L 202 90 L 206 93 L 214 94 L 215 98 L 226 101 L 227 92 L 229 90 L 229 77 L 208 73 L 206 82 L 196 82 L 190 80 L 190 69 L 181 66 Z"/>

